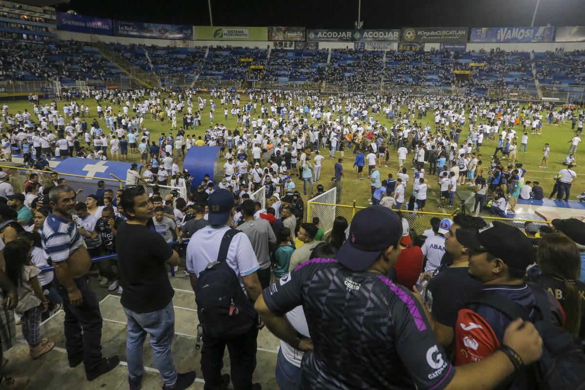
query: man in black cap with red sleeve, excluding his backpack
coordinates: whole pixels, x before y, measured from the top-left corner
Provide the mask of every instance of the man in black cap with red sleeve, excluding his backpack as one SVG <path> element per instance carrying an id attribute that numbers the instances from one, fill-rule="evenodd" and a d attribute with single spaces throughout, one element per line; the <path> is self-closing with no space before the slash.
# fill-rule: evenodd
<path id="1" fill-rule="evenodd" d="M 494 221 L 477 232 L 457 229 L 456 238 L 467 248 L 469 275 L 483 283 L 480 296 L 497 294 L 503 308 L 506 302 L 513 301 L 525 309 L 532 322 L 541 319 L 543 313 L 544 319 L 562 326 L 559 302 L 544 289 L 524 282 L 526 267 L 536 260 L 534 246 L 524 233 Z M 455 364 L 479 361 L 493 354 L 501 347 L 510 322 L 501 310 L 484 303 L 470 303 L 468 308 L 459 310 Z"/>

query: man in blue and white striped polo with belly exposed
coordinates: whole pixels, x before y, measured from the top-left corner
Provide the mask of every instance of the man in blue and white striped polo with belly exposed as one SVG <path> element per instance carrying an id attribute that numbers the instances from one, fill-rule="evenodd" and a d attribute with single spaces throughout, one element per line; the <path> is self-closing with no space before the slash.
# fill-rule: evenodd
<path id="1" fill-rule="evenodd" d="M 70 367 L 85 365 L 88 381 L 115 368 L 120 358 L 102 357 L 102 315 L 95 293 L 91 291 L 87 272 L 90 253 L 79 233 L 75 211 L 75 191 L 57 185 L 49 192 L 53 209 L 44 221 L 41 234 L 43 249 L 55 267 L 54 285 L 65 310 L 65 339 Z"/>

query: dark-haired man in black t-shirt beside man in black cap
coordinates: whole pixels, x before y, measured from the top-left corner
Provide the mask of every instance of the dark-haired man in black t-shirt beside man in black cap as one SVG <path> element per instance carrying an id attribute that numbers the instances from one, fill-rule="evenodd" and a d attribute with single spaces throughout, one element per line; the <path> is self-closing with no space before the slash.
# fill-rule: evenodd
<path id="1" fill-rule="evenodd" d="M 422 297 L 415 294 L 423 303 L 426 318 L 443 347 L 448 347 L 455 336 L 457 311 L 482 290 L 481 282 L 469 277 L 469 256 L 466 248 L 457 241 L 456 230 L 477 231 L 485 226 L 482 219 L 471 215 L 457 214 L 453 217 L 449 233 L 445 234 L 445 252 L 453 263 L 437 268 L 438 274 L 429 280 Z"/>

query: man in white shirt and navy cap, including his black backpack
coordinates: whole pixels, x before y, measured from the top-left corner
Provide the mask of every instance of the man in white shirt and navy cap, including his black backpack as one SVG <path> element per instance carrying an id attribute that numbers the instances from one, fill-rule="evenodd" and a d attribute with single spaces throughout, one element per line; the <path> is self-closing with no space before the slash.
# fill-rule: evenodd
<path id="1" fill-rule="evenodd" d="M 253 308 L 261 294 L 260 266 L 250 239 L 230 228 L 235 215 L 232 193 L 218 189 L 209 195 L 208 205 L 209 225 L 191 236 L 186 264 L 202 328 L 205 388 L 225 389 L 229 384 L 229 375 L 221 374 L 228 346 L 233 388 L 259 390 L 259 384 L 252 385 L 252 374 L 260 327 Z"/>

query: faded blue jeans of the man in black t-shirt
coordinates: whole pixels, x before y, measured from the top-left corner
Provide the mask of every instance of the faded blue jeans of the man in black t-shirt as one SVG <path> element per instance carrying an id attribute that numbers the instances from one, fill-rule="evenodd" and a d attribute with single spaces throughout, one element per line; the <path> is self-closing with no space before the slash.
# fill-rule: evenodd
<path id="1" fill-rule="evenodd" d="M 146 334 L 150 335 L 150 346 L 154 355 L 154 364 L 159 369 L 163 382 L 172 387 L 177 382 L 177 369 L 171 356 L 171 343 L 175 335 L 175 311 L 173 301 L 166 308 L 150 313 L 135 313 L 123 308 L 128 317 L 128 336 L 126 339 L 126 360 L 128 376 L 131 379 L 142 376 L 144 364 L 142 347 Z"/>

